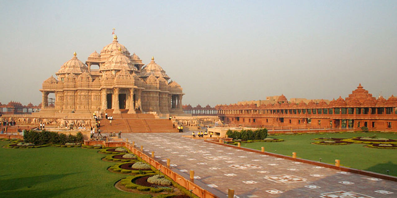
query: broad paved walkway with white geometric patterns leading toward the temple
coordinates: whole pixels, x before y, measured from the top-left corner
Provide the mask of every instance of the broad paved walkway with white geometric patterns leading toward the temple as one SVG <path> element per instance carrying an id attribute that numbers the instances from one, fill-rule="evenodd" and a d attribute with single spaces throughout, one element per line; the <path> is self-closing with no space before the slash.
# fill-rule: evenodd
<path id="1" fill-rule="evenodd" d="M 181 133 L 123 133 L 150 156 L 237 198 L 396 198 L 397 182 L 303 164 L 181 137 Z M 187 177 L 189 178 L 189 177 Z"/>

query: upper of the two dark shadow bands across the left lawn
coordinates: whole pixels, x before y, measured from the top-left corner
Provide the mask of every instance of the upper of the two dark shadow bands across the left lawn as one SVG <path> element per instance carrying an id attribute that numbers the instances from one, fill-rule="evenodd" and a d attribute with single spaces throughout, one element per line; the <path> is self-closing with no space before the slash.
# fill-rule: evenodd
<path id="1" fill-rule="evenodd" d="M 77 174 L 77 173 L 52 174 L 52 175 L 40 175 L 40 176 L 32 176 L 32 177 L 19 177 L 19 178 L 12 178 L 12 179 L 0 179 L 0 191 L 15 190 L 15 189 L 24 188 L 24 187 L 32 187 L 39 183 L 60 179 L 67 175 L 74 175 L 74 174 Z M 35 196 L 31 196 L 31 197 L 35 197 Z"/>

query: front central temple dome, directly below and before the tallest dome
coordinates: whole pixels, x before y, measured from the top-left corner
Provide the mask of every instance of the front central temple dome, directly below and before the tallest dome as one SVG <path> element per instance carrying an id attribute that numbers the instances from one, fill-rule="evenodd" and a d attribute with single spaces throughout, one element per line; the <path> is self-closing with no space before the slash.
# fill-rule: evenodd
<path id="1" fill-rule="evenodd" d="M 118 48 L 118 52 L 110 57 L 101 67 L 102 70 L 136 70 L 129 57 L 122 53 L 121 47 Z"/>

